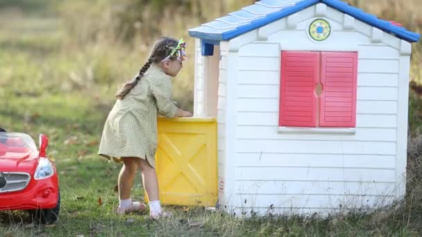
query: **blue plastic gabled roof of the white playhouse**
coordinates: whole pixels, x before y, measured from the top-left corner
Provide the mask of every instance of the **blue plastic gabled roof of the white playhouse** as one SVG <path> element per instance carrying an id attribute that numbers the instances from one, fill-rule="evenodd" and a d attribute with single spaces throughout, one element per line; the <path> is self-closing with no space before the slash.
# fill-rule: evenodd
<path id="1" fill-rule="evenodd" d="M 351 15 L 387 33 L 391 33 L 407 42 L 418 42 L 421 37 L 419 33 L 414 33 L 401 26 L 396 26 L 389 21 L 378 19 L 378 17 L 366 13 L 360 8 L 349 6 L 340 0 L 261 0 L 251 6 L 231 12 L 224 17 L 192 28 L 189 30 L 189 35 L 211 41 L 230 40 L 238 35 L 292 15 L 316 3 L 325 3 L 332 8 Z"/>

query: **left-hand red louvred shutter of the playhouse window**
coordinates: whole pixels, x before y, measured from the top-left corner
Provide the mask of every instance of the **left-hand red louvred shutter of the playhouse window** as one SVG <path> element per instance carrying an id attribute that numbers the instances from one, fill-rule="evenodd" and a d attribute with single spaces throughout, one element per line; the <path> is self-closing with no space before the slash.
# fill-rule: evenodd
<path id="1" fill-rule="evenodd" d="M 316 127 L 318 52 L 282 51 L 278 125 Z"/>

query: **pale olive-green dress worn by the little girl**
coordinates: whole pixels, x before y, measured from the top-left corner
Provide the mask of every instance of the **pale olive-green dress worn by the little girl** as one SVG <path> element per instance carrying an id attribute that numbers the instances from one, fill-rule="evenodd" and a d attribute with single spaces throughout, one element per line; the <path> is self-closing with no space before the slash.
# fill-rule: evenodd
<path id="1" fill-rule="evenodd" d="M 99 155 L 146 159 L 155 168 L 157 116 L 176 116 L 178 106 L 171 98 L 171 78 L 154 64 L 135 87 L 117 100 L 103 128 Z"/>

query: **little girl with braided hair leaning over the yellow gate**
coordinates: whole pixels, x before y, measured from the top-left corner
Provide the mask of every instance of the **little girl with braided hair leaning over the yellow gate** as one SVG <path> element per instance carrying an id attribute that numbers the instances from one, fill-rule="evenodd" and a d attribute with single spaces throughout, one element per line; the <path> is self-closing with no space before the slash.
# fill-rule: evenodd
<path id="1" fill-rule="evenodd" d="M 158 39 L 148 61 L 135 78 L 121 88 L 117 101 L 105 121 L 99 155 L 123 161 L 119 174 L 117 213 L 144 211 L 145 205 L 130 199 L 130 188 L 137 167 L 142 172 L 153 219 L 168 216 L 162 211 L 155 174 L 157 149 L 157 114 L 167 117 L 192 116 L 178 109 L 171 99 L 171 78 L 178 74 L 185 60 L 185 42 L 171 37 Z"/>

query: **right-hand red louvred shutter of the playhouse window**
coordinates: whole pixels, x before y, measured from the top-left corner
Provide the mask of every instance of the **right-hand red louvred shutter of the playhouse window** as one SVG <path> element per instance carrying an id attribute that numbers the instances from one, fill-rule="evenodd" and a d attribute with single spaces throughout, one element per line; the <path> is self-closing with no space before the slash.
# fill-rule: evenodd
<path id="1" fill-rule="evenodd" d="M 357 53 L 321 53 L 319 125 L 356 126 Z"/>

